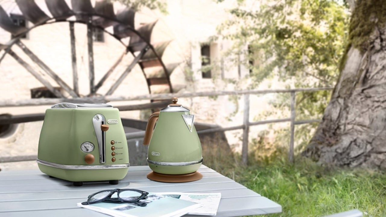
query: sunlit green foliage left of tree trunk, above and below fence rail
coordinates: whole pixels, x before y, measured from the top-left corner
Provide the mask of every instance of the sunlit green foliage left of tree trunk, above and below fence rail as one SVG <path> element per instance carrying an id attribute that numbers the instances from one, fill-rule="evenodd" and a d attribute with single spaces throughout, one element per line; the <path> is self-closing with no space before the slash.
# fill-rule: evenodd
<path id="1" fill-rule="evenodd" d="M 230 54 L 242 53 L 248 57 L 244 64 L 252 71 L 252 88 L 273 78 L 285 83 L 286 88 L 334 86 L 341 59 L 347 52 L 350 14 L 346 2 L 268 0 L 256 1 L 255 7 L 245 6 L 248 2 L 243 0 L 238 3 L 239 7 L 230 10 L 232 19 L 220 25 L 218 31 L 235 42 Z M 296 93 L 296 120 L 320 119 L 330 94 L 330 91 Z M 256 117 L 257 120 L 289 117 L 283 112 L 289 110 L 288 93 L 278 94 L 270 103 L 282 112 L 271 110 Z M 304 146 L 315 127 L 317 124 L 297 126 L 295 141 Z"/>

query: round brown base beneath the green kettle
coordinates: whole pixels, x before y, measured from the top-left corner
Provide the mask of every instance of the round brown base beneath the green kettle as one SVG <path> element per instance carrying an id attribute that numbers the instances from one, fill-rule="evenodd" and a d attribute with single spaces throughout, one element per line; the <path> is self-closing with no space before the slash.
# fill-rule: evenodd
<path id="1" fill-rule="evenodd" d="M 198 171 L 195 171 L 194 173 L 188 173 L 188 174 L 169 175 L 169 174 L 162 174 L 162 173 L 156 173 L 154 171 L 151 171 L 149 174 L 147 174 L 146 177 L 153 181 L 179 183 L 179 182 L 190 182 L 190 181 L 200 180 L 202 178 L 202 174 L 199 173 Z"/>

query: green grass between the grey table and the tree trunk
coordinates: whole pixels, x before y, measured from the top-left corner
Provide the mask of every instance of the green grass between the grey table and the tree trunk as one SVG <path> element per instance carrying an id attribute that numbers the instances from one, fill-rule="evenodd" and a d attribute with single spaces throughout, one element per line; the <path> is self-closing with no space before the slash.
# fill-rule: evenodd
<path id="1" fill-rule="evenodd" d="M 326 168 L 300 156 L 295 164 L 276 156 L 250 160 L 248 166 L 221 150 L 203 149 L 203 156 L 205 165 L 279 203 L 283 212 L 270 217 L 321 217 L 352 209 L 364 217 L 386 216 L 386 174 L 379 171 Z"/>

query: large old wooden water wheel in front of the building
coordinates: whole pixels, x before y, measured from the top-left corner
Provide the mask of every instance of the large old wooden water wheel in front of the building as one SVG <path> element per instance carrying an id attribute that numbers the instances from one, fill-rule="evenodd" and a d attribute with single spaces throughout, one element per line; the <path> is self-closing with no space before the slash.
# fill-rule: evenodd
<path id="1" fill-rule="evenodd" d="M 165 64 L 162 60 L 164 51 L 170 41 L 157 43 L 151 41 L 151 35 L 154 26 L 157 23 L 156 21 L 135 27 L 134 17 L 136 12 L 131 8 L 125 8 L 115 14 L 113 4 L 109 0 L 98 0 L 95 2 L 94 7 L 90 0 L 71 0 L 71 7 L 69 7 L 64 0 L 45 0 L 46 7 L 51 16 L 47 15 L 34 0 L 15 0 L 15 3 L 17 7 L 19 7 L 24 18 L 33 25 L 24 27 L 14 24 L 10 15 L 7 14 L 0 5 L 0 27 L 12 34 L 12 39 L 10 41 L 5 44 L 0 44 L 0 64 L 4 56 L 12 56 L 17 63 L 22 65 L 25 70 L 31 73 L 56 97 L 82 97 L 78 88 L 78 63 L 76 57 L 74 24 L 83 24 L 86 25 L 87 28 L 87 59 L 90 89 L 86 96 L 96 95 L 97 91 L 105 84 L 105 81 L 108 80 L 112 71 L 117 64 L 122 61 L 122 58 L 125 55 L 132 55 L 133 58 L 131 63 L 127 64 L 125 70 L 120 72 L 119 78 L 110 86 L 107 92 L 102 95 L 112 95 L 137 64 L 139 64 L 143 75 L 146 78 L 149 93 L 172 93 L 176 90 L 171 84 L 170 74 L 179 63 Z M 67 84 L 57 73 L 55 73 L 55 69 L 50 68 L 43 59 L 38 58 L 32 49 L 29 49 L 20 40 L 27 32 L 34 31 L 37 27 L 57 22 L 68 22 L 71 39 L 72 85 Z M 112 63 L 112 67 L 97 82 L 95 81 L 94 70 L 94 29 L 100 29 L 106 34 L 114 37 L 122 44 L 122 50 L 124 51 L 124 54 Z M 124 41 L 126 41 L 126 43 Z M 14 46 L 17 46 L 20 49 L 12 49 Z M 22 52 L 23 54 L 18 54 L 17 52 Z M 39 66 L 40 73 L 30 66 L 30 64 L 23 59 L 23 56 L 24 58 L 25 56 L 28 56 L 32 59 L 32 61 Z M 146 70 L 148 68 L 152 68 L 153 70 Z M 43 76 L 41 71 L 44 73 Z M 52 78 L 51 81 L 45 78 L 47 76 Z M 52 80 L 55 81 L 56 84 L 53 84 Z M 59 91 L 55 86 L 59 86 L 66 94 L 63 94 L 63 92 Z"/>

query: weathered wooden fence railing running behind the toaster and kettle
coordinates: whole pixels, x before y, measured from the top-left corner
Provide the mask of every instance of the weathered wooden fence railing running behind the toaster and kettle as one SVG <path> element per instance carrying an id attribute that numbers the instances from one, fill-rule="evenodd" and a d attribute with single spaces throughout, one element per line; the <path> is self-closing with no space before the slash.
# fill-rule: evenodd
<path id="1" fill-rule="evenodd" d="M 101 102 L 101 101 L 132 101 L 132 100 L 159 100 L 159 99 L 166 99 L 166 98 L 172 98 L 172 97 L 178 97 L 178 98 L 184 98 L 184 97 L 211 97 L 211 96 L 221 96 L 221 95 L 244 95 L 244 118 L 243 118 L 243 124 L 232 126 L 232 127 L 218 127 L 218 128 L 212 128 L 212 129 L 206 129 L 202 131 L 198 131 L 198 134 L 200 133 L 207 133 L 207 132 L 223 132 L 223 131 L 232 131 L 237 129 L 243 130 L 243 136 L 242 136 L 242 162 L 244 164 L 247 163 L 248 160 L 248 141 L 249 141 L 249 127 L 254 125 L 261 125 L 261 124 L 271 124 L 271 123 L 279 123 L 279 122 L 290 122 L 290 141 L 289 141 L 289 153 L 288 153 L 288 159 L 289 162 L 293 162 L 294 157 L 294 136 L 295 136 L 295 125 L 298 124 L 308 124 L 312 122 L 319 122 L 320 120 L 295 120 L 296 114 L 295 114 L 295 107 L 296 107 L 296 92 L 315 92 L 315 91 L 323 91 L 323 90 L 332 90 L 332 87 L 323 87 L 323 88 L 296 88 L 296 89 L 279 89 L 279 90 L 237 90 L 237 91 L 220 91 L 220 92 L 195 92 L 195 93 L 166 93 L 166 94 L 151 94 L 151 95 L 141 95 L 141 96 L 135 96 L 135 97 L 113 97 L 113 96 L 105 96 L 105 97 L 86 97 L 86 98 L 74 98 L 74 99 L 31 99 L 31 100 L 22 100 L 22 101 L 4 101 L 0 102 L 0 107 L 11 107 L 11 106 L 30 106 L 30 105 L 52 105 L 59 102 Z M 249 121 L 249 96 L 250 95 L 264 95 L 268 93 L 290 93 L 291 94 L 291 115 L 288 118 L 284 119 L 271 119 L 271 120 L 261 120 L 257 122 L 250 122 Z M 142 106 L 126 106 L 121 107 L 121 111 L 125 110 L 138 110 L 143 109 Z M 23 115 L 21 115 L 23 116 Z M 36 121 L 36 120 L 42 120 L 42 114 L 33 114 L 31 115 L 24 115 L 26 117 L 19 117 L 19 118 L 8 118 L 4 117 L 3 119 L 0 119 L 0 122 L 29 122 L 29 121 Z M 144 132 L 134 132 L 134 133 L 127 133 L 126 137 L 127 139 L 139 139 L 143 137 Z M 13 156 L 13 157 L 0 157 L 0 163 L 5 162 L 14 162 L 14 161 L 30 161 L 35 160 L 36 155 L 28 155 L 28 156 Z"/>

